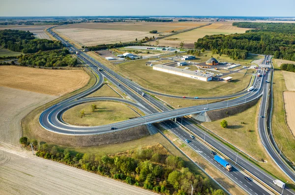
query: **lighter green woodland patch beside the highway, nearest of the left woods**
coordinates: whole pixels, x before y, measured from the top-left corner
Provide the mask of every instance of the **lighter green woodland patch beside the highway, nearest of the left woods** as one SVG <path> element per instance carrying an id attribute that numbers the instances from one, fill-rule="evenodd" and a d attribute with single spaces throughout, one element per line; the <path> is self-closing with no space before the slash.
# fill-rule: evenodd
<path id="1" fill-rule="evenodd" d="M 52 50 L 45 52 L 37 52 L 35 54 L 29 54 L 20 56 L 19 60 L 21 65 L 32 65 L 32 66 L 45 66 L 45 67 L 56 67 L 56 66 L 76 66 L 77 59 L 69 54 L 67 49 Z"/>

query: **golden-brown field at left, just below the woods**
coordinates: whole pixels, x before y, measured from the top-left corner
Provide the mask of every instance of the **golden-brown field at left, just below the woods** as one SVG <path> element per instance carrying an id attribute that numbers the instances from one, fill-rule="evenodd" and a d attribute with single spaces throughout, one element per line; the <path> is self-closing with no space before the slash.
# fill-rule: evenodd
<path id="1" fill-rule="evenodd" d="M 89 82 L 83 70 L 49 70 L 0 66 L 0 86 L 61 96 Z"/>

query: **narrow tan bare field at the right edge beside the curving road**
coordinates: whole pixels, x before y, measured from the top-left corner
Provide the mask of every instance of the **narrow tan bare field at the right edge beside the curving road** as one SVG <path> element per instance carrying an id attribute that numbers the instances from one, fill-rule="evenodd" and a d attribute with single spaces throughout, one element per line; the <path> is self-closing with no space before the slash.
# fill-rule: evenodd
<path id="1" fill-rule="evenodd" d="M 284 92 L 286 119 L 293 136 L 295 136 L 295 92 Z"/>

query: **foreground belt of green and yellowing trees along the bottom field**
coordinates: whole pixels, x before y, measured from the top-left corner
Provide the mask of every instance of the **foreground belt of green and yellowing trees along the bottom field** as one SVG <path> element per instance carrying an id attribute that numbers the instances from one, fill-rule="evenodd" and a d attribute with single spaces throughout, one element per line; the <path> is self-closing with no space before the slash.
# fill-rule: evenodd
<path id="1" fill-rule="evenodd" d="M 72 167 L 121 180 L 129 185 L 139 186 L 165 195 L 224 195 L 222 190 L 213 190 L 207 177 L 202 177 L 185 167 L 184 161 L 173 155 L 157 153 L 156 149 L 139 148 L 120 155 L 95 155 L 77 153 L 47 143 L 38 146 L 30 140 L 36 155 Z M 28 145 L 23 137 L 20 143 Z"/>

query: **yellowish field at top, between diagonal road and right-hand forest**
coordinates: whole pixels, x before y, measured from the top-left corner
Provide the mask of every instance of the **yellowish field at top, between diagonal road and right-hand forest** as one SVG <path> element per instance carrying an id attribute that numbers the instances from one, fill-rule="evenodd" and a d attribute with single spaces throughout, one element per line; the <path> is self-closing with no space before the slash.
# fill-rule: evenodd
<path id="1" fill-rule="evenodd" d="M 233 34 L 244 33 L 248 28 L 237 28 L 232 22 L 216 22 L 209 26 L 182 32 L 159 40 L 159 45 L 170 47 L 179 47 L 181 41 L 184 42 L 185 48 L 194 48 L 194 43 L 199 38 L 212 34 Z"/>

